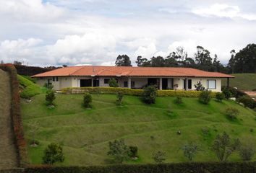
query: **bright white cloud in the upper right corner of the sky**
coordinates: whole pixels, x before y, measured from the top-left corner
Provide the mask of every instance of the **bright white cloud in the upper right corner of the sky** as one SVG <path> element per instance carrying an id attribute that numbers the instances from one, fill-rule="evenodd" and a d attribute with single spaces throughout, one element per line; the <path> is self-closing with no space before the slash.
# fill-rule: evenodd
<path id="1" fill-rule="evenodd" d="M 239 6 L 231 6 L 228 4 L 213 4 L 208 7 L 192 9 L 192 12 L 205 17 L 241 17 L 247 20 L 256 20 L 256 14 L 243 13 Z"/>

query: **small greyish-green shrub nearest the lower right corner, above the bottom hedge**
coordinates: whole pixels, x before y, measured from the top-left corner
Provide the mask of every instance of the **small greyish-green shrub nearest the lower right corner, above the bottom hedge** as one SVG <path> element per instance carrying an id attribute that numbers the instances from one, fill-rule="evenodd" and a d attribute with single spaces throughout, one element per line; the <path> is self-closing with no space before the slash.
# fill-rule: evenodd
<path id="1" fill-rule="evenodd" d="M 255 143 L 252 143 L 251 139 L 247 139 L 239 147 L 239 156 L 243 161 L 250 161 L 255 155 Z"/>

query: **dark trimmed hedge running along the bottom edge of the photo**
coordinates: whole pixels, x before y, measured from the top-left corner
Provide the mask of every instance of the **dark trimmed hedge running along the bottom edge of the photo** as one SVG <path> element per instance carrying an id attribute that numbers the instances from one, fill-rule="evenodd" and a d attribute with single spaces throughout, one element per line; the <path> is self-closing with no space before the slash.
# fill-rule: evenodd
<path id="1" fill-rule="evenodd" d="M 254 173 L 255 162 L 119 164 L 95 167 L 28 167 L 26 173 Z"/>

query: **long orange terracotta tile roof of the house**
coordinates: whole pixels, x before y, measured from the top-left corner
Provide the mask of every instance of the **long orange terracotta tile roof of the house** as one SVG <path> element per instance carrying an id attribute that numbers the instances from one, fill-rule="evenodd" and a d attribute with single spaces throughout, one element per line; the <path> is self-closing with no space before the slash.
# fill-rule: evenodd
<path id="1" fill-rule="evenodd" d="M 70 66 L 47 71 L 33 77 L 48 76 L 187 76 L 234 78 L 228 74 L 182 67 Z"/>

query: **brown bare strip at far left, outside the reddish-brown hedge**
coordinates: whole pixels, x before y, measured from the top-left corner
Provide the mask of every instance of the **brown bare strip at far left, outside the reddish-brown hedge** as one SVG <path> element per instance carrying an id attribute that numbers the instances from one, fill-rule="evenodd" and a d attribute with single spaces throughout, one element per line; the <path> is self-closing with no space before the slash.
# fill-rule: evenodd
<path id="1" fill-rule="evenodd" d="M 0 169 L 17 167 L 11 115 L 11 87 L 9 75 L 0 70 Z"/>

